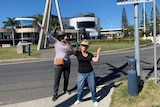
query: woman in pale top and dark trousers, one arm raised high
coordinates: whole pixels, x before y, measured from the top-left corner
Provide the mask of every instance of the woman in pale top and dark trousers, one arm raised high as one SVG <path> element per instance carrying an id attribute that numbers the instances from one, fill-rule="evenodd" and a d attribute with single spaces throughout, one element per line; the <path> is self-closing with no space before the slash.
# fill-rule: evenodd
<path id="1" fill-rule="evenodd" d="M 59 83 L 60 78 L 63 73 L 64 76 L 64 87 L 63 92 L 64 93 L 70 93 L 68 92 L 68 81 L 69 81 L 69 74 L 70 74 L 70 66 L 71 66 L 71 60 L 70 55 L 73 52 L 73 49 L 71 47 L 71 44 L 67 41 L 67 36 L 65 33 L 61 32 L 58 35 L 58 38 L 53 37 L 49 32 L 47 32 L 44 27 L 41 25 L 41 23 L 37 22 L 39 27 L 43 29 L 45 35 L 48 37 L 50 42 L 54 44 L 55 47 L 55 57 L 54 57 L 54 87 L 53 87 L 53 98 L 52 100 L 55 101 L 58 98 L 58 89 L 59 89 Z M 63 65 L 57 65 L 56 60 L 57 59 L 63 59 L 64 64 Z"/>

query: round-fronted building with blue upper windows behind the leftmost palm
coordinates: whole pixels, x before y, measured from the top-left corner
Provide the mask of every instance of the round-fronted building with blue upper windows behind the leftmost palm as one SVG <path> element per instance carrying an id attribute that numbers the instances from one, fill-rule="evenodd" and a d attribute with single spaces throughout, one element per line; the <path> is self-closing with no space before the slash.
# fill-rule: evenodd
<path id="1" fill-rule="evenodd" d="M 15 44 L 18 44 L 19 41 L 29 41 L 32 44 L 38 43 L 39 38 L 39 30 L 33 24 L 34 22 L 33 17 L 21 17 L 15 18 L 15 21 L 18 23 L 15 26 L 15 34 L 14 40 Z M 11 36 L 11 29 L 1 28 L 0 29 L 0 44 L 11 44 L 12 45 L 12 36 Z"/>

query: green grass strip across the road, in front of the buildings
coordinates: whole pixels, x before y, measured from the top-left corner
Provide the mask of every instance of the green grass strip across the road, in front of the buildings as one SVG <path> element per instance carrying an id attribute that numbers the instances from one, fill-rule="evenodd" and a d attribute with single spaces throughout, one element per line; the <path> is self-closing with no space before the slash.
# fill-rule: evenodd
<path id="1" fill-rule="evenodd" d="M 133 43 L 107 43 L 107 42 L 98 42 L 91 43 L 89 51 L 96 52 L 98 47 L 101 47 L 102 51 L 111 51 L 119 50 L 133 47 Z M 28 53 L 18 54 L 17 46 L 11 46 L 6 48 L 0 48 L 0 60 L 5 59 L 21 59 L 21 58 L 36 58 L 40 53 L 37 51 L 37 45 L 31 45 L 31 55 L 28 56 Z M 28 51 L 26 47 L 26 51 Z"/>

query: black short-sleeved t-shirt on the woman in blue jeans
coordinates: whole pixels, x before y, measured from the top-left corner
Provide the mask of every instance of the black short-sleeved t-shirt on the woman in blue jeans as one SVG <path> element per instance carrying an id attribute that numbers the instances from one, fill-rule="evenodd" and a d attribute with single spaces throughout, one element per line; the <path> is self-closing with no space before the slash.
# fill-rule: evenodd
<path id="1" fill-rule="evenodd" d="M 91 65 L 92 58 L 94 57 L 92 53 L 88 53 L 87 57 L 82 55 L 81 51 L 76 51 L 76 56 L 78 59 L 78 72 L 79 73 L 89 73 L 93 71 L 93 67 Z"/>

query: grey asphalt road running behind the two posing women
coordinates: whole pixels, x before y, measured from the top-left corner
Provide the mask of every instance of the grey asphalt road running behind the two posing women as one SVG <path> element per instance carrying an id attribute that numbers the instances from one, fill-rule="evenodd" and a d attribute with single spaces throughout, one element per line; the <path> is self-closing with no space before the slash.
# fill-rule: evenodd
<path id="1" fill-rule="evenodd" d="M 153 45 L 144 47 L 140 51 L 141 79 L 154 77 L 153 52 Z M 158 53 L 160 53 L 159 46 L 157 46 L 157 61 L 159 62 Z M 131 57 L 134 57 L 134 50 L 102 53 L 100 62 L 93 63 L 97 85 L 127 79 L 127 62 Z M 69 89 L 76 91 L 77 60 L 74 56 L 71 60 Z M 52 60 L 0 63 L 0 105 L 51 97 L 53 75 Z M 59 93 L 62 92 L 62 86 L 63 78 Z"/>

